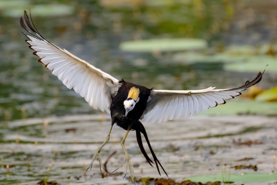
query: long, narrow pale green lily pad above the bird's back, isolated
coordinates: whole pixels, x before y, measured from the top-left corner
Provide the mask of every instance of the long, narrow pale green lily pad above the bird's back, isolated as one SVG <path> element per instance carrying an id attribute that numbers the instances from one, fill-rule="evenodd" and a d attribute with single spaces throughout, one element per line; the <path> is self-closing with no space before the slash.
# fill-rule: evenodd
<path id="1" fill-rule="evenodd" d="M 207 42 L 202 39 L 149 39 L 127 41 L 119 45 L 122 51 L 185 51 L 203 49 L 207 47 Z"/>

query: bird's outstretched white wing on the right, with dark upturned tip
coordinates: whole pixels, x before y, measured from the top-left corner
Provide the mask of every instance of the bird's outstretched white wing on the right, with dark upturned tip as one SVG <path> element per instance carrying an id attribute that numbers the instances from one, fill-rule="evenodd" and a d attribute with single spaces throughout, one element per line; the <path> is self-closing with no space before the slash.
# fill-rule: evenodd
<path id="1" fill-rule="evenodd" d="M 218 104 L 225 104 L 226 99 L 239 96 L 241 91 L 258 83 L 262 79 L 263 73 L 259 72 L 254 80 L 247 81 L 239 88 L 214 89 L 215 87 L 209 87 L 188 91 L 153 90 L 141 119 L 145 122 L 160 123 L 190 117 L 202 110 L 216 107 Z"/>

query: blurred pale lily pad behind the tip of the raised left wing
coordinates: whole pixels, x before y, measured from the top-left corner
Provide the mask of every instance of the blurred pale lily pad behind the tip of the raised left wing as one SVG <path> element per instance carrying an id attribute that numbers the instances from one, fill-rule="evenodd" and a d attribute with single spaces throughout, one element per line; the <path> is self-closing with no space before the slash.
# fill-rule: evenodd
<path id="1" fill-rule="evenodd" d="M 9 9 L 2 10 L 2 14 L 7 17 L 21 17 L 23 15 L 23 10 L 29 9 L 25 6 L 16 6 Z M 49 5 L 35 5 L 31 7 L 31 13 L 33 16 L 64 16 L 70 15 L 74 12 L 73 6 L 62 5 L 62 4 L 49 4 Z"/>

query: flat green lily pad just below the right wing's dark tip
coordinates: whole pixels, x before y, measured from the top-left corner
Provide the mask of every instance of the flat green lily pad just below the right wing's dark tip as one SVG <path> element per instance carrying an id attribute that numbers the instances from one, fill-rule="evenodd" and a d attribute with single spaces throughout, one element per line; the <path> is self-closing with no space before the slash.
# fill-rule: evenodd
<path id="1" fill-rule="evenodd" d="M 204 110 L 199 115 L 277 115 L 276 102 L 228 100 L 224 105 Z"/>

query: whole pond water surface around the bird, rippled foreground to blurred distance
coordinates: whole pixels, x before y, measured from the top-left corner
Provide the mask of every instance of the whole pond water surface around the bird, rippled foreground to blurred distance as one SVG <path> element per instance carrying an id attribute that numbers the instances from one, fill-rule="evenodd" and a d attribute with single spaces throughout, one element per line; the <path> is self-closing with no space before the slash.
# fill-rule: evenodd
<path id="1" fill-rule="evenodd" d="M 61 184 L 130 183 L 119 173 L 102 178 L 97 162 L 84 175 L 91 154 L 108 132 L 109 116 L 92 109 L 37 62 L 19 24 L 23 10 L 29 7 L 44 37 L 117 79 L 156 89 L 230 88 L 253 79 L 269 62 L 270 72 L 266 71 L 258 86 L 267 89 L 277 85 L 275 1 L 0 0 L 0 184 L 36 184 L 45 177 Z M 195 38 L 207 45 L 159 51 L 146 43 L 149 51 L 144 52 L 122 47 L 126 41 L 164 38 Z M 226 65 L 252 60 L 252 71 Z M 220 154 L 227 170 L 233 161 L 234 165 L 258 164 L 259 173 L 271 173 L 277 120 L 261 116 L 264 114 L 145 125 L 158 158 L 169 176 L 178 181 L 221 173 Z M 277 109 L 270 115 L 276 116 Z M 249 132 L 241 133 L 247 128 Z M 119 144 L 123 134 L 114 128 L 103 150 L 103 159 L 117 151 L 108 163 L 110 171 L 123 160 Z M 263 144 L 238 145 L 239 138 Z M 126 147 L 137 179 L 159 177 L 140 154 L 134 133 L 128 136 Z M 235 162 L 245 157 L 254 159 Z"/>

